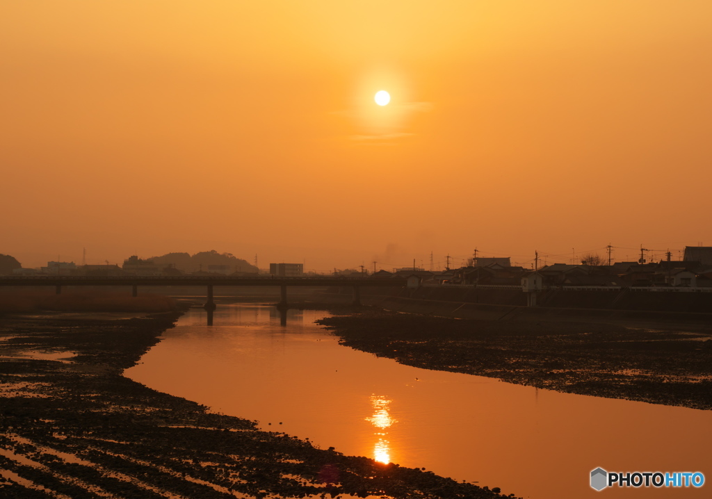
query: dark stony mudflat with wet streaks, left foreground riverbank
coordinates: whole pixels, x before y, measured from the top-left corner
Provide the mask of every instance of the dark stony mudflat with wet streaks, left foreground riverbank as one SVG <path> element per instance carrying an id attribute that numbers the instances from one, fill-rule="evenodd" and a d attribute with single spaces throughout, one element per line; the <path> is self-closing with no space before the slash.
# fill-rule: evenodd
<path id="1" fill-rule="evenodd" d="M 1 498 L 505 497 L 259 431 L 122 377 L 178 315 L 0 317 Z"/>

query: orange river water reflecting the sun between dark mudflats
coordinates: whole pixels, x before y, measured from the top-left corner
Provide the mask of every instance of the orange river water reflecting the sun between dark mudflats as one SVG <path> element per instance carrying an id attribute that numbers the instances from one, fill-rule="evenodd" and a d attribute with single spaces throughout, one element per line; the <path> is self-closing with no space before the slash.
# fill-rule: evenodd
<path id="1" fill-rule="evenodd" d="M 308 438 L 524 498 L 712 496 L 712 411 L 561 394 L 397 364 L 338 344 L 327 312 L 192 309 L 127 369 L 148 387 Z M 701 488 L 590 488 L 590 472 L 701 471 Z"/>

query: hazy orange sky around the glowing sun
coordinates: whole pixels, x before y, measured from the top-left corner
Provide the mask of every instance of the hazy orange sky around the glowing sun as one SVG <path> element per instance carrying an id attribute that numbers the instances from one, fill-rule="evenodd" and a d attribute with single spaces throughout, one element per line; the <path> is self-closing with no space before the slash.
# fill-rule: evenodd
<path id="1" fill-rule="evenodd" d="M 0 253 L 712 246 L 711 26 L 709 0 L 0 0 Z"/>

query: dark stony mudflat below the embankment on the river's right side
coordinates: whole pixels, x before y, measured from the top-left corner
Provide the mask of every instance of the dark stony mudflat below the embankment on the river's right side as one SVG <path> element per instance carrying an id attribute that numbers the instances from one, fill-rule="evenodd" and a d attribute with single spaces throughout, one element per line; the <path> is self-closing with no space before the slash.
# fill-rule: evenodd
<path id="1" fill-rule="evenodd" d="M 712 327 L 455 320 L 365 309 L 320 320 L 342 345 L 424 369 L 712 409 Z"/>

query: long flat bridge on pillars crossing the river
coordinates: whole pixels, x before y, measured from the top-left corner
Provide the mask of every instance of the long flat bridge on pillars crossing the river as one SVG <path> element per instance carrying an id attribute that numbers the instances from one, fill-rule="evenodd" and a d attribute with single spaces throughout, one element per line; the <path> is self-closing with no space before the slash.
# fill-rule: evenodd
<path id="1" fill-rule="evenodd" d="M 312 287 L 349 287 L 353 288 L 355 305 L 361 303 L 360 289 L 362 287 L 402 288 L 406 285 L 404 278 L 339 278 L 339 277 L 229 277 L 179 275 L 171 277 L 147 277 L 139 275 L 122 277 L 80 277 L 71 275 L 41 275 L 22 277 L 0 277 L 0 286 L 53 286 L 57 294 L 62 293 L 63 286 L 131 286 L 132 295 L 138 296 L 139 286 L 205 286 L 207 289 L 206 310 L 215 310 L 213 300 L 214 286 L 279 286 L 281 300 L 278 304 L 286 308 L 287 286 Z"/>

